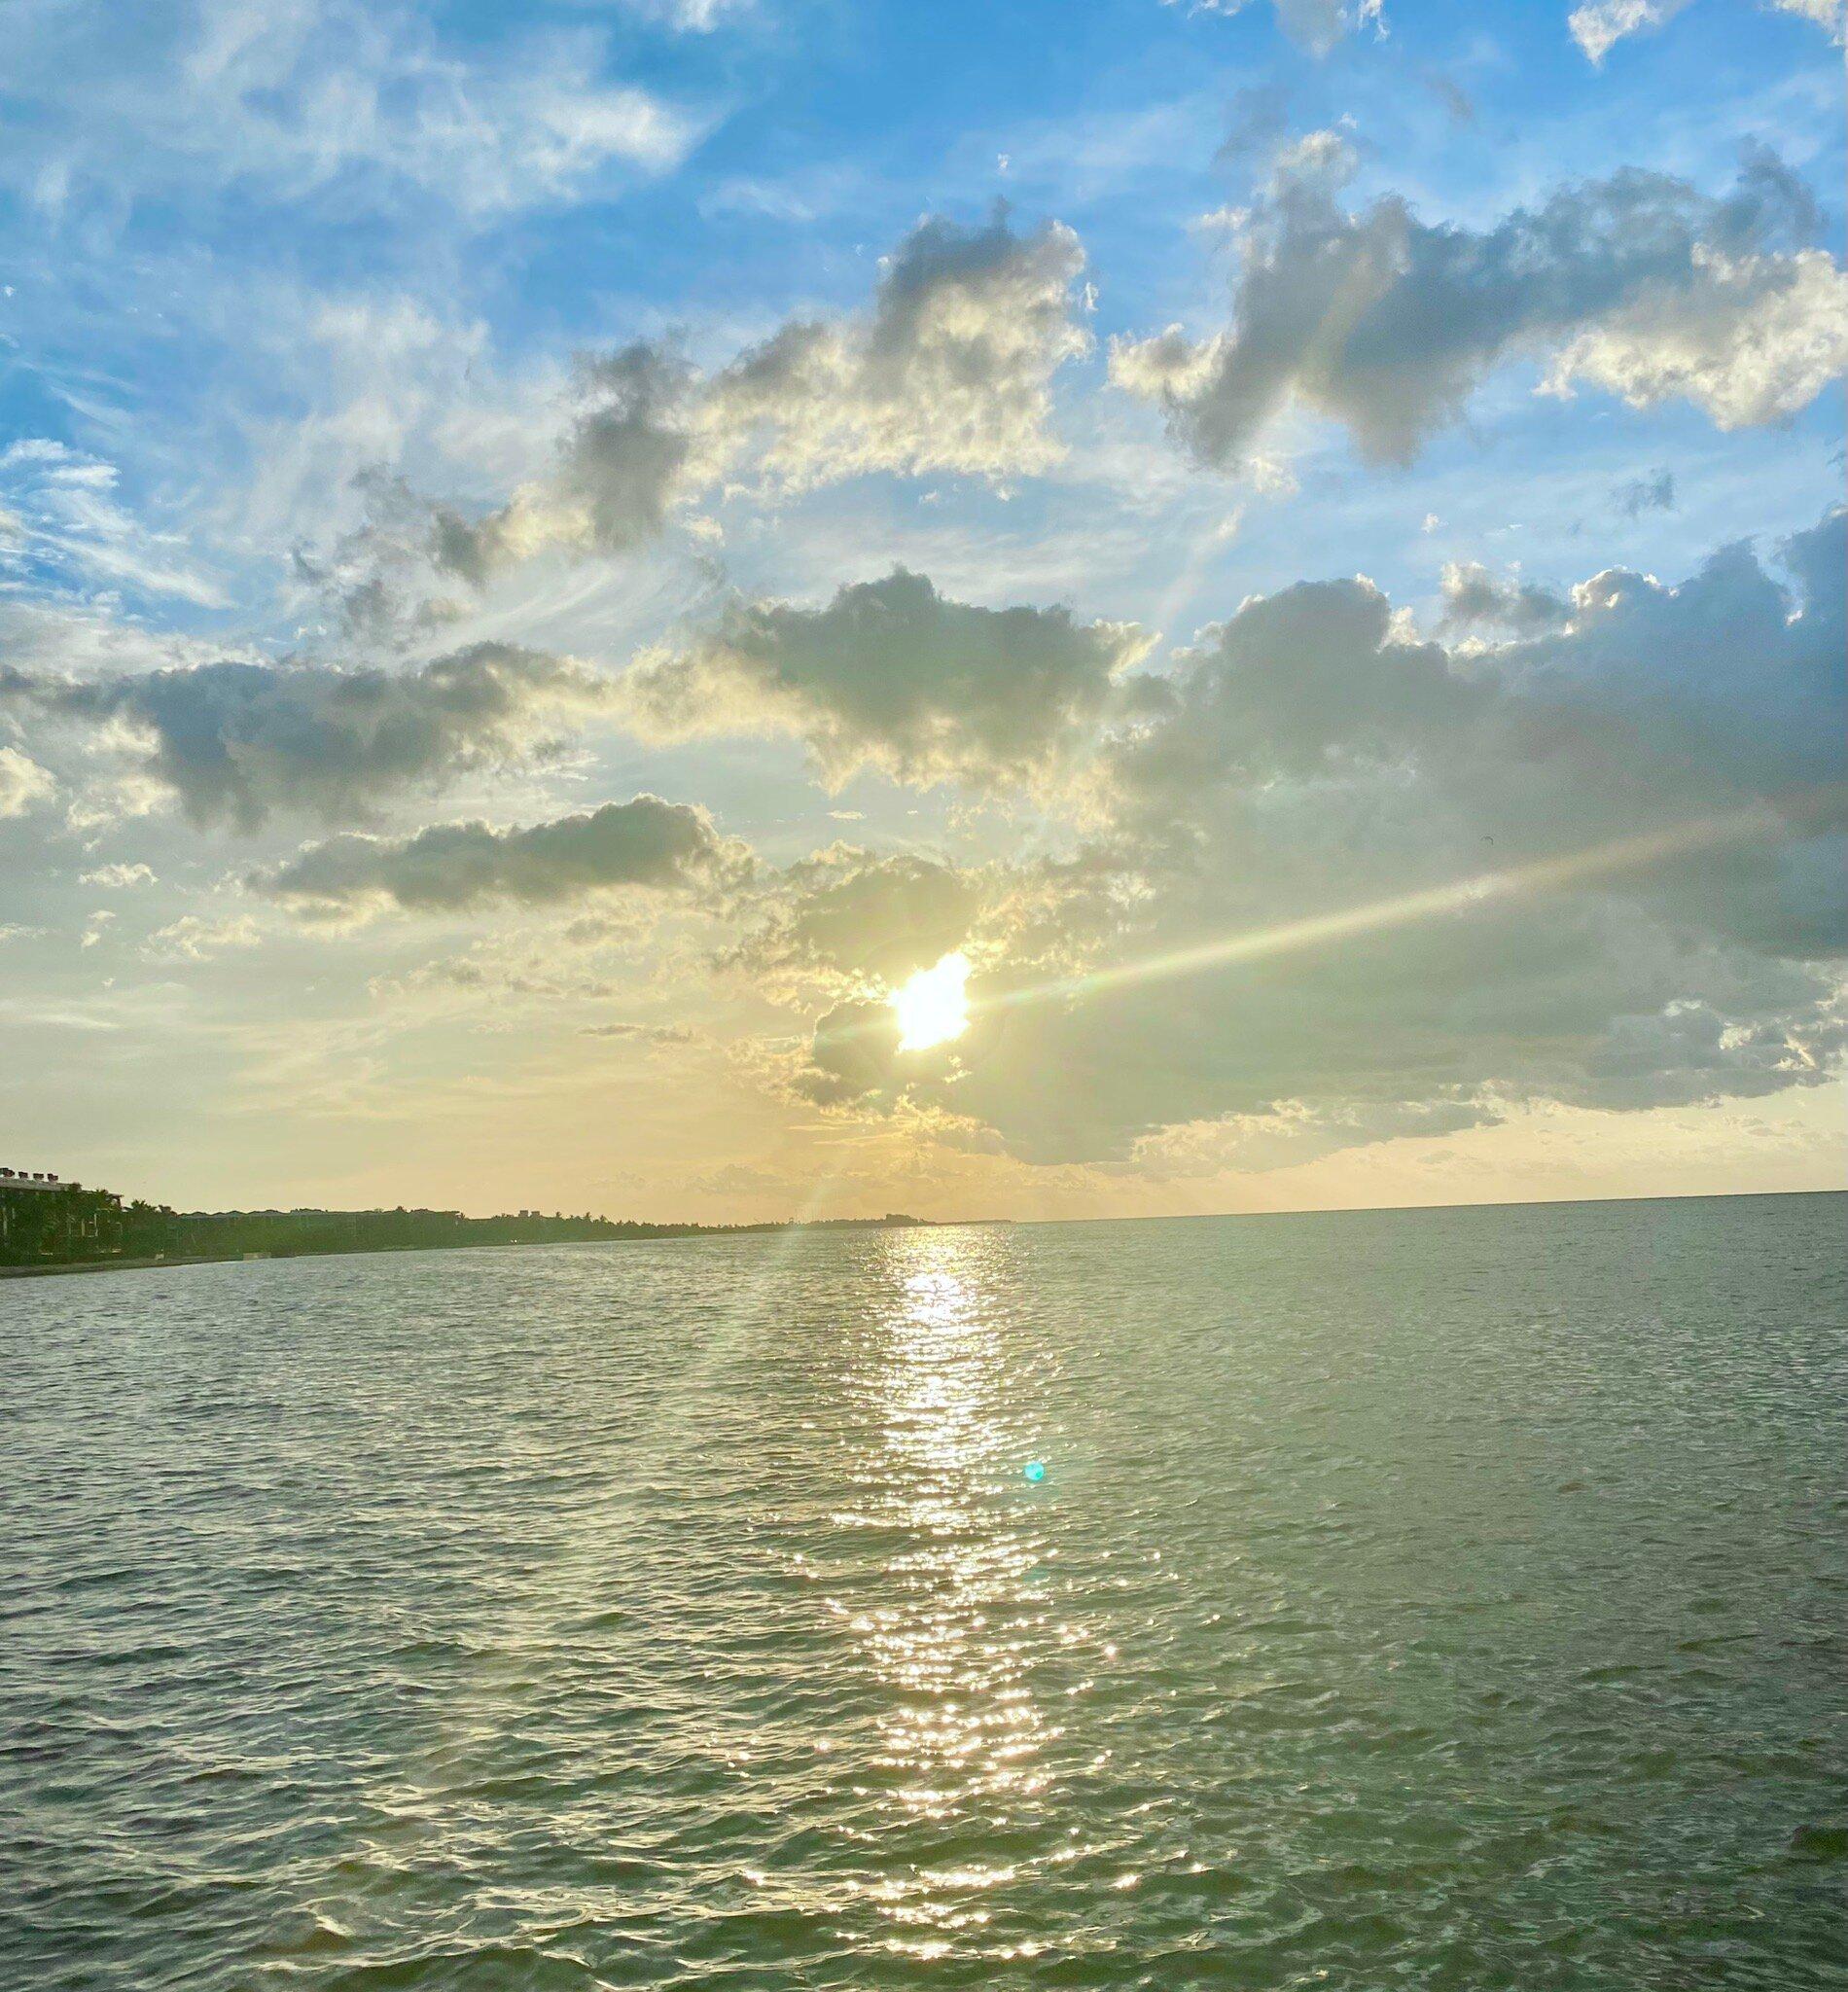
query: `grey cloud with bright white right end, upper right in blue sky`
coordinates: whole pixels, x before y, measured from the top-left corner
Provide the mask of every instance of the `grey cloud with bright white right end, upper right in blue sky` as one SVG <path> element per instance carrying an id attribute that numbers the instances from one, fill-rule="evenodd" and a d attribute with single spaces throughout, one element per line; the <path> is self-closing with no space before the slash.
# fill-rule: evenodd
<path id="1" fill-rule="evenodd" d="M 1159 402 L 1199 462 L 1239 466 L 1300 402 L 1404 464 L 1519 357 L 1549 392 L 1683 398 L 1721 428 L 1786 416 L 1848 365 L 1848 275 L 1802 247 L 1814 201 L 1770 153 L 1723 197 L 1623 169 L 1484 231 L 1424 223 L 1398 195 L 1352 211 L 1352 165 L 1334 133 L 1282 157 L 1245 221 L 1227 331 L 1113 341 L 1111 378 Z"/>

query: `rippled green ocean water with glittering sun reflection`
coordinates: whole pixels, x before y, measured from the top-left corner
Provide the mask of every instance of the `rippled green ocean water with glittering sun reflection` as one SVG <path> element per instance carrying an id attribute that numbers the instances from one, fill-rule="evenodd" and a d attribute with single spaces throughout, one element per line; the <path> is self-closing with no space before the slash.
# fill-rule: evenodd
<path id="1" fill-rule="evenodd" d="M 1842 1217 L 8 1283 L 0 1984 L 1848 1984 Z"/>

